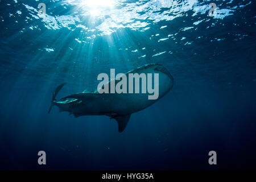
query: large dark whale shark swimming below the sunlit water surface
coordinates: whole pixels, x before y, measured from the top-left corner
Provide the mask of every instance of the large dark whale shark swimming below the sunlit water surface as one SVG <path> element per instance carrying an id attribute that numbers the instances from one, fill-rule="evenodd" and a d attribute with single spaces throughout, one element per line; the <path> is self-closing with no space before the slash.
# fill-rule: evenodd
<path id="1" fill-rule="evenodd" d="M 160 64 L 147 64 L 142 67 L 133 69 L 125 75 L 128 77 L 129 73 L 137 74 L 157 74 L 158 82 L 154 86 L 158 86 L 158 98 L 155 100 L 148 99 L 150 93 L 102 93 L 101 90 L 96 89 L 93 92 L 84 91 L 82 93 L 71 94 L 69 96 L 56 100 L 57 93 L 63 88 L 66 82 L 57 86 L 52 96 L 52 105 L 49 108 L 50 113 L 52 106 L 59 107 L 61 111 L 67 111 L 69 114 L 73 114 L 76 118 L 82 115 L 106 115 L 110 119 L 115 119 L 118 123 L 118 131 L 122 133 L 125 130 L 130 116 L 133 113 L 146 109 L 151 106 L 165 94 L 167 94 L 174 85 L 174 78 L 167 71 L 163 65 Z M 110 80 L 103 88 L 110 87 L 110 85 L 118 84 L 121 79 Z M 154 80 L 153 82 L 155 82 Z M 148 82 L 147 82 L 148 84 Z M 129 86 L 127 86 L 129 87 Z M 133 89 L 135 86 L 133 86 Z M 129 88 L 127 88 L 129 89 Z M 142 87 L 141 87 L 142 89 Z M 100 92 L 99 92 L 100 91 Z"/>

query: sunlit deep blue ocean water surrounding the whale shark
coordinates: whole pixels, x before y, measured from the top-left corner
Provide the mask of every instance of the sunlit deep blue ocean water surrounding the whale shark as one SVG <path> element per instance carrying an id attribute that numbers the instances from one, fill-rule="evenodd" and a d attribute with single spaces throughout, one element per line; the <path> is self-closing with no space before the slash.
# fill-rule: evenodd
<path id="1" fill-rule="evenodd" d="M 0 1 L 0 169 L 255 169 L 255 23 L 247 0 Z M 150 63 L 174 88 L 121 134 L 106 116 L 47 113 L 63 82 L 57 98 Z"/>

